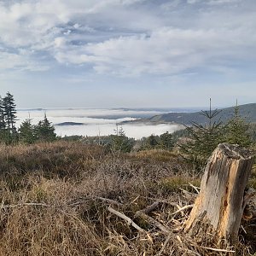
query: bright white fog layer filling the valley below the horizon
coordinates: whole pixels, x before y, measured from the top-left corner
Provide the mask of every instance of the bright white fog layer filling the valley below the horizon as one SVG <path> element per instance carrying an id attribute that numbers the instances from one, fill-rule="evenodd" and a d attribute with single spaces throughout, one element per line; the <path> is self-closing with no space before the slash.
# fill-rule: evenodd
<path id="1" fill-rule="evenodd" d="M 155 110 L 132 110 L 132 109 L 23 109 L 18 111 L 17 126 L 30 118 L 32 124 L 38 124 L 47 114 L 49 121 L 55 125 L 55 132 L 58 136 L 108 136 L 114 134 L 116 124 L 123 121 L 134 120 L 131 116 L 148 116 L 164 112 Z M 67 125 L 73 122 L 73 125 Z M 66 123 L 65 125 L 59 125 Z M 75 125 L 79 123 L 80 125 Z M 83 124 L 83 125 L 82 125 Z M 181 125 L 149 125 L 149 124 L 123 124 L 125 135 L 140 139 L 151 134 L 160 135 L 166 131 L 173 132 L 180 129 Z"/>

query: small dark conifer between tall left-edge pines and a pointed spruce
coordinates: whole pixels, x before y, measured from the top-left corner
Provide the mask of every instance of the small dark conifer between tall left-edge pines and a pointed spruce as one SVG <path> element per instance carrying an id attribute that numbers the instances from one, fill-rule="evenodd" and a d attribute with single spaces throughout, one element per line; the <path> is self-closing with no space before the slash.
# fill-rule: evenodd
<path id="1" fill-rule="evenodd" d="M 19 139 L 21 143 L 32 144 L 35 142 L 36 137 L 34 134 L 34 127 L 31 119 L 25 119 L 19 128 Z"/>

